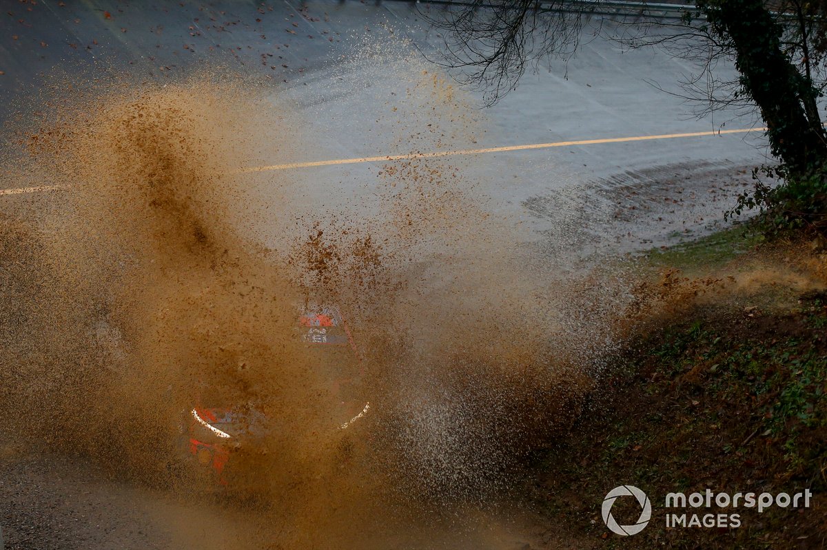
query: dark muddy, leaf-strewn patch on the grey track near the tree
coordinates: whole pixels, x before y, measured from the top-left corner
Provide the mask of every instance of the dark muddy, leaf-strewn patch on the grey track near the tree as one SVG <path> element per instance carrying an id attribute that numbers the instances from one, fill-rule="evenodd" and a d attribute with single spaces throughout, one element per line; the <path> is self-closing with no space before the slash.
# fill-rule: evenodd
<path id="1" fill-rule="evenodd" d="M 752 166 L 686 162 L 629 170 L 523 202 L 541 224 L 534 246 L 573 261 L 622 256 L 709 235 L 728 225 L 724 212 L 753 187 Z M 734 216 L 732 222 L 746 216 Z"/>

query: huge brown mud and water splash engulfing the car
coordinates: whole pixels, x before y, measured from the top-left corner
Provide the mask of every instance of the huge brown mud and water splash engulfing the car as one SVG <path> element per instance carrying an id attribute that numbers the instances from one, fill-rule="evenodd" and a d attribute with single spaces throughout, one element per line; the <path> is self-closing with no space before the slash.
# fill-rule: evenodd
<path id="1" fill-rule="evenodd" d="M 428 130 L 396 146 L 456 146 L 457 94 L 417 73 L 394 116 Z M 571 296 L 519 268 L 461 164 L 385 164 L 379 211 L 294 209 L 293 173 L 244 171 L 313 141 L 286 103 L 241 79 L 104 88 L 57 97 L 7 159 L 9 187 L 63 189 L 0 220 L 7 429 L 198 500 L 216 480 L 185 462 L 182 418 L 255 411 L 267 428 L 219 492 L 274 548 L 335 548 L 507 493 L 576 417 L 594 343 L 549 315 Z M 313 307 L 345 312 L 353 353 L 297 338 Z M 370 413 L 337 429 L 350 401 Z"/>

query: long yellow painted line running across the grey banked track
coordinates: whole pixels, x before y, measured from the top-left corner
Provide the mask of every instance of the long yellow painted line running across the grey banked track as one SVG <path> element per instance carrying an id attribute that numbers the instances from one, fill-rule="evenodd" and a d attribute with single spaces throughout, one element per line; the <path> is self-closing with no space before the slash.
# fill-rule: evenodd
<path id="1" fill-rule="evenodd" d="M 486 147 L 485 149 L 459 149 L 453 151 L 431 151 L 429 153 L 391 154 L 377 157 L 362 157 L 361 159 L 333 159 L 313 160 L 306 163 L 271 164 L 270 166 L 253 166 L 241 168 L 240 173 L 270 172 L 274 170 L 289 170 L 292 168 L 313 168 L 316 166 L 336 166 L 339 164 L 378 163 L 394 160 L 434 159 L 437 157 L 451 157 L 464 154 L 505 153 L 509 151 L 526 151 L 530 149 L 550 149 L 552 147 L 567 147 L 572 145 L 599 145 L 606 143 L 626 143 L 630 141 L 673 140 L 676 138 L 700 137 L 705 135 L 746 134 L 748 132 L 762 132 L 767 128 L 739 128 L 738 130 L 710 130 L 705 132 L 689 132 L 686 134 L 635 135 L 623 138 L 604 138 L 600 140 L 555 141 L 552 143 L 534 143 L 527 145 L 508 145 L 505 147 Z M 18 187 L 17 189 L 0 189 L 0 196 L 18 195 L 41 191 L 64 189 L 60 185 L 43 185 L 38 187 Z"/>

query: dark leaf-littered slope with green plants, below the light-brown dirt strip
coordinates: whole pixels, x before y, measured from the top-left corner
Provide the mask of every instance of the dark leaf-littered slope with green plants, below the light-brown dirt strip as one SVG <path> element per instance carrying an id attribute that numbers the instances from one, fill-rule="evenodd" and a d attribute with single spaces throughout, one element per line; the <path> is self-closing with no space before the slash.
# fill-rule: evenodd
<path id="1" fill-rule="evenodd" d="M 543 460 L 535 487 L 549 517 L 605 548 L 600 504 L 609 489 L 638 486 L 653 521 L 633 548 L 821 548 L 827 514 L 827 296 L 798 311 L 762 315 L 707 309 L 630 346 L 592 412 Z M 815 507 L 740 510 L 739 529 L 667 529 L 672 491 L 810 488 Z M 658 506 L 661 506 L 659 509 Z M 690 510 L 693 511 L 693 510 Z M 713 510 L 715 511 L 715 510 Z M 702 513 L 705 513 L 702 511 Z M 636 510 L 639 514 L 639 508 Z M 637 517 L 635 511 L 629 516 Z"/>

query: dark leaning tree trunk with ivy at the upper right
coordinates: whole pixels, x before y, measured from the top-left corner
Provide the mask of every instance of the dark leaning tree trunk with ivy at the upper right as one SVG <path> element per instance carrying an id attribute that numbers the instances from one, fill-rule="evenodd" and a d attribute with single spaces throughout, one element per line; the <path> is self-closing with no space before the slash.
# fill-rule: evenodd
<path id="1" fill-rule="evenodd" d="M 772 13 L 762 0 L 699 5 L 713 28 L 734 45 L 741 85 L 761 110 L 772 154 L 794 175 L 822 168 L 827 140 L 817 108 L 813 112 L 817 92 L 782 51 L 782 27 Z"/>

